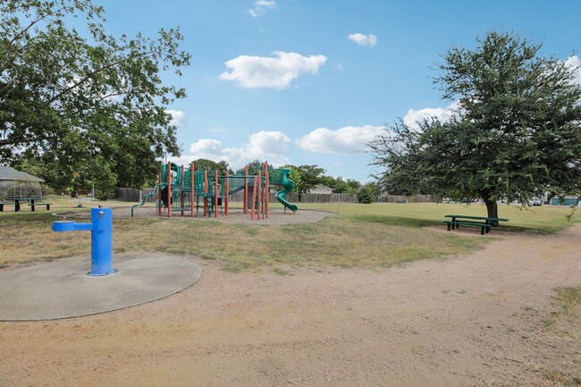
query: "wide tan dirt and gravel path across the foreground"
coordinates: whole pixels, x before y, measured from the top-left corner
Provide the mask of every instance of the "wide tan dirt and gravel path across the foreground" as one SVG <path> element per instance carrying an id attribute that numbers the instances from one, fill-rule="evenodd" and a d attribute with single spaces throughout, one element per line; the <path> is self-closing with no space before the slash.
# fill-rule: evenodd
<path id="1" fill-rule="evenodd" d="M 579 324 L 543 328 L 554 288 L 581 284 L 580 237 L 581 224 L 509 235 L 469 257 L 377 271 L 201 262 L 200 281 L 168 299 L 0 323 L 0 386 L 581 384 Z"/>

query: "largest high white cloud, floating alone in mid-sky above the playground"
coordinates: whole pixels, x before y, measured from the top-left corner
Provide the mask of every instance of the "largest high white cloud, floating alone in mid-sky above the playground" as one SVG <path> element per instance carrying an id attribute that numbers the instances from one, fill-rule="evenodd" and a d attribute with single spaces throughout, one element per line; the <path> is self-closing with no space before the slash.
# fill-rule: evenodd
<path id="1" fill-rule="evenodd" d="M 236 80 L 244 88 L 288 88 L 301 72 L 316 74 L 327 58 L 275 51 L 274 58 L 240 55 L 226 62 L 222 80 Z"/>

